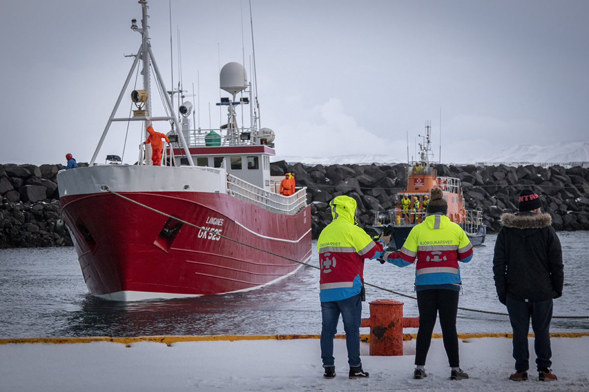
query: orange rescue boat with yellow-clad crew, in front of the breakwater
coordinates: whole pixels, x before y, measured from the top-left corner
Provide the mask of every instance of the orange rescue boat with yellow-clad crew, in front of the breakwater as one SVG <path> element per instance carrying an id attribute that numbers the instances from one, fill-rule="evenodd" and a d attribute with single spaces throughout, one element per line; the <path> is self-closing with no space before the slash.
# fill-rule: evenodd
<path id="1" fill-rule="evenodd" d="M 397 193 L 397 206 L 395 209 L 378 212 L 375 223 L 372 226 L 377 232 L 382 232 L 386 225 L 393 225 L 394 231 L 391 237 L 389 249 L 401 249 L 411 229 L 425 219 L 426 211 L 424 202 L 429 197 L 430 190 L 441 187 L 444 198 L 448 202 L 448 213 L 451 222 L 457 223 L 464 229 L 473 245 L 484 243 L 487 227 L 482 224 L 481 210 L 466 210 L 464 208 L 464 196 L 460 179 L 454 177 L 439 176 L 431 150 L 431 123 L 426 122 L 425 135 L 419 135 L 422 143 L 419 143 L 419 159 L 409 161 L 407 165 L 407 187 L 404 192 Z M 409 207 L 403 207 L 402 199 L 408 198 Z M 427 202 L 426 202 L 427 203 Z M 417 207 L 416 204 L 418 205 Z"/>

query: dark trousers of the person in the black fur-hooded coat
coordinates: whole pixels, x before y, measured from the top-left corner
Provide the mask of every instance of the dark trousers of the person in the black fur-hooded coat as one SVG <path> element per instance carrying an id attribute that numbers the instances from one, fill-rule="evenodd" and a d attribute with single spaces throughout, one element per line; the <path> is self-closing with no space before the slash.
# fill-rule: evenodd
<path id="1" fill-rule="evenodd" d="M 507 313 L 511 328 L 514 330 L 515 370 L 530 369 L 530 350 L 528 349 L 528 331 L 530 319 L 534 330 L 534 350 L 538 369 L 551 367 L 552 350 L 550 347 L 550 321 L 552 320 L 552 300 L 524 302 L 507 296 Z"/>

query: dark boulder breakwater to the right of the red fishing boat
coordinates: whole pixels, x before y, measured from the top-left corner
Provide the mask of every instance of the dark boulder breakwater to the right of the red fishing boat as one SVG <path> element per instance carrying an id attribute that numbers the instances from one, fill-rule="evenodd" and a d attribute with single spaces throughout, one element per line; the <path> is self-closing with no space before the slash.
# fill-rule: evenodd
<path id="1" fill-rule="evenodd" d="M 534 189 L 556 230 L 589 230 L 589 169 L 573 167 L 548 169 L 536 166 L 446 166 L 436 165 L 438 176 L 461 180 L 466 209 L 481 209 L 488 232 L 499 230 L 499 216 L 517 212 L 519 192 Z M 376 213 L 396 206 L 398 192 L 407 186 L 405 164 L 386 165 L 270 165 L 272 176 L 294 173 L 297 186 L 307 187 L 311 205 L 313 239 L 331 220 L 329 202 L 348 195 L 358 203 L 359 226 L 373 233 Z"/>

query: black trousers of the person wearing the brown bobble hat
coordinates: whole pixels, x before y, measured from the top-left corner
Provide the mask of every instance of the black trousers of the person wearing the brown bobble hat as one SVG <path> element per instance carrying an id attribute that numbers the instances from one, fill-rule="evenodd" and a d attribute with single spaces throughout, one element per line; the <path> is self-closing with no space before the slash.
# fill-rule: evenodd
<path id="1" fill-rule="evenodd" d="M 444 349 L 448 356 L 450 367 L 459 367 L 458 333 L 456 333 L 456 313 L 458 313 L 459 292 L 446 289 L 420 290 L 417 292 L 417 307 L 419 309 L 419 330 L 415 343 L 415 364 L 425 365 L 429 345 L 432 342 L 432 332 L 439 313 Z"/>

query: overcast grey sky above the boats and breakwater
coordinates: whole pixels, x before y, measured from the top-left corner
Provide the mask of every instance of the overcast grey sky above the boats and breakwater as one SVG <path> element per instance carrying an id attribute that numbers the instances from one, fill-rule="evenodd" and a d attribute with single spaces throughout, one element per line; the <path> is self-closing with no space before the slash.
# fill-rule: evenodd
<path id="1" fill-rule="evenodd" d="M 170 89 L 170 2 L 148 5 Z M 589 1 L 252 0 L 252 11 L 261 121 L 277 155 L 406 159 L 426 120 L 436 155 L 441 126 L 444 162 L 589 140 Z M 141 43 L 133 18 L 136 0 L 0 2 L 0 163 L 91 159 L 133 62 L 124 55 Z M 218 127 L 219 65 L 245 58 L 250 73 L 249 2 L 171 0 L 171 29 L 174 85 L 179 31 L 183 88 L 200 91 L 201 128 Z M 117 116 L 130 105 L 125 93 Z M 97 162 L 123 154 L 125 133 L 127 123 L 111 127 Z M 131 122 L 125 162 L 142 139 Z"/>

